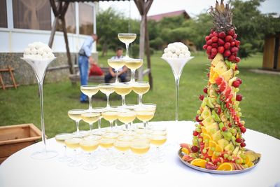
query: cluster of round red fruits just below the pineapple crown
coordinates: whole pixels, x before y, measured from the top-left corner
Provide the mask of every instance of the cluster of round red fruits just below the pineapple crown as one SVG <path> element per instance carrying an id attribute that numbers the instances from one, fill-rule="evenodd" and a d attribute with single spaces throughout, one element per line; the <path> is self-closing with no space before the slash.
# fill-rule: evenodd
<path id="1" fill-rule="evenodd" d="M 227 34 L 211 30 L 209 36 L 205 37 L 205 41 L 206 44 L 203 48 L 207 50 L 209 59 L 214 59 L 217 53 L 221 53 L 230 62 L 238 63 L 240 61 L 240 58 L 237 57 L 240 41 L 237 40 L 235 29 L 230 29 Z"/>

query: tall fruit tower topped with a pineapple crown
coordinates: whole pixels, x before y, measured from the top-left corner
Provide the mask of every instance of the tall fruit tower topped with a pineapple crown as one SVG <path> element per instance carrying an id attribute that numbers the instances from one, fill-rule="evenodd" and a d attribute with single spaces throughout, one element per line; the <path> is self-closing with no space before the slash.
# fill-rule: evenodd
<path id="1" fill-rule="evenodd" d="M 237 170 L 252 167 L 260 155 L 246 150 L 243 134 L 245 122 L 241 120 L 239 103 L 242 95 L 239 86 L 237 40 L 232 25 L 232 9 L 229 4 L 216 2 L 210 15 L 214 27 L 205 37 L 204 50 L 211 60 L 209 81 L 200 95 L 202 104 L 197 111 L 197 124 L 193 131 L 193 145 L 181 144 L 183 160 L 192 165 L 217 170 Z"/>

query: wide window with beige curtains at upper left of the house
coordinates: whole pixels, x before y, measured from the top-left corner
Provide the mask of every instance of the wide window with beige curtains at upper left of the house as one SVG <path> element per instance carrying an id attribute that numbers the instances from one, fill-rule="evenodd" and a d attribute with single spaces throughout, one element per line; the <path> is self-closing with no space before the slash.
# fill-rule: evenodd
<path id="1" fill-rule="evenodd" d="M 13 0 L 13 25 L 18 29 L 50 30 L 48 0 Z"/>

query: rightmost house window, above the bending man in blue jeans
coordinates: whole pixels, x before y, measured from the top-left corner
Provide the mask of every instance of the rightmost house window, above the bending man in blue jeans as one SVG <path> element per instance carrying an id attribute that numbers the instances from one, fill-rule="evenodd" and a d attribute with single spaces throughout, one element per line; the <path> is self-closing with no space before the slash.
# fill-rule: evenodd
<path id="1" fill-rule="evenodd" d="M 93 33 L 93 11 L 93 6 L 79 3 L 80 34 L 91 35 Z"/>

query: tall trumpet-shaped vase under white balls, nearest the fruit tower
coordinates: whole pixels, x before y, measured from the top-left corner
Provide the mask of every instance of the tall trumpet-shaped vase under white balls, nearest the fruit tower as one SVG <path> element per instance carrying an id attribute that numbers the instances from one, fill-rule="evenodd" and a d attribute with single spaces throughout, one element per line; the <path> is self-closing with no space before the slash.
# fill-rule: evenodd
<path id="1" fill-rule="evenodd" d="M 167 58 L 167 57 L 162 57 L 163 60 L 165 60 L 171 67 L 172 72 L 174 74 L 175 78 L 175 89 L 176 89 L 176 111 L 175 111 L 175 120 L 176 122 L 179 120 L 179 82 L 180 82 L 180 77 L 183 71 L 183 67 L 186 65 L 186 63 L 189 60 L 192 60 L 193 57 L 187 57 L 187 58 Z"/>

